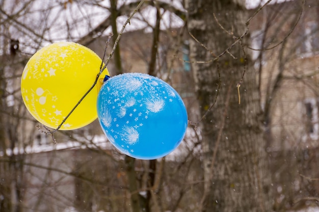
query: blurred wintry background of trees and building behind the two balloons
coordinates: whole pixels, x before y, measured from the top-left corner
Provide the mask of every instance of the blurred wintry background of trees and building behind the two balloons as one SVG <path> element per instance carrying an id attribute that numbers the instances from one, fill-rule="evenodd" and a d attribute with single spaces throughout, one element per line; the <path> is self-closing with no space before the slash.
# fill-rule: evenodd
<path id="1" fill-rule="evenodd" d="M 97 120 L 57 144 L 36 128 L 20 94 L 29 58 L 59 41 L 102 57 L 112 32 L 109 54 L 139 3 L 0 0 L 0 212 L 319 211 L 316 0 L 143 3 L 108 70 L 182 97 L 190 124 L 164 158 L 121 154 Z"/>

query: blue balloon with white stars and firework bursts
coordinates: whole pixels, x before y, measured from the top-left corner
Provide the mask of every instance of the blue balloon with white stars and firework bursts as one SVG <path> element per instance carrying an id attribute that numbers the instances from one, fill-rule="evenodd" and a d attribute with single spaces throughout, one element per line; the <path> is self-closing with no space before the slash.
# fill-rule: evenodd
<path id="1" fill-rule="evenodd" d="M 111 77 L 97 97 L 103 132 L 120 152 L 137 159 L 157 159 L 182 141 L 185 105 L 173 87 L 157 77 L 126 73 Z"/>

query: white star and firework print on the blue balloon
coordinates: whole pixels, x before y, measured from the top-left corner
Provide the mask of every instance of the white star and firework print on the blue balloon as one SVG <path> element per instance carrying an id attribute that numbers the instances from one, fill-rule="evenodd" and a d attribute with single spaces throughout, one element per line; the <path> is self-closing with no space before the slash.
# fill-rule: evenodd
<path id="1" fill-rule="evenodd" d="M 152 79 L 144 75 L 142 76 L 144 80 Z M 112 117 L 107 109 L 103 112 L 101 120 L 105 127 L 109 128 L 108 131 L 114 134 L 113 137 L 117 138 L 120 136 L 127 144 L 136 144 L 139 140 L 138 128 L 143 127 L 143 122 L 148 118 L 148 115 L 151 115 L 150 113 L 157 113 L 163 110 L 165 106 L 169 106 L 166 105 L 167 102 L 165 101 L 165 97 L 169 96 L 168 90 L 167 92 L 158 92 L 156 87 L 161 86 L 161 84 L 157 82 L 152 82 L 150 85 L 151 86 L 144 84 L 144 86 L 142 86 L 141 81 L 134 77 L 127 77 L 115 85 L 121 88 L 121 90 L 125 90 L 121 96 L 118 90 L 108 93 L 110 99 L 105 103 L 105 108 L 112 108 L 117 111 L 117 114 L 116 117 Z M 107 87 L 107 90 L 110 90 L 110 88 Z M 151 94 L 151 96 L 143 99 L 144 93 Z M 132 97 L 131 94 L 133 94 L 134 97 Z M 171 94 L 170 96 L 175 97 L 176 95 Z M 119 101 L 120 103 L 118 103 Z M 169 102 L 173 102 L 173 99 L 170 99 Z M 142 107 L 143 105 L 146 107 Z M 143 113 L 147 115 L 142 117 Z M 119 124 L 115 125 L 116 127 L 122 128 L 121 132 L 113 129 L 112 123 L 116 123 L 117 118 L 126 120 L 121 126 Z"/>

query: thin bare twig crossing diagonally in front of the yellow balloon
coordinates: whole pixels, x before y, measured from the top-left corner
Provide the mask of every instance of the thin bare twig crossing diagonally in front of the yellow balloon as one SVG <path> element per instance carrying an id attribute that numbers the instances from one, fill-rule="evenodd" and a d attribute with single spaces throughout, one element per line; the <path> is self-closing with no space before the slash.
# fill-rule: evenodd
<path id="1" fill-rule="evenodd" d="M 109 57 L 108 57 L 107 60 L 105 61 L 104 66 L 103 66 L 103 61 L 104 61 L 104 58 L 105 58 L 105 55 L 106 55 L 106 51 L 107 51 L 108 45 L 110 44 L 110 40 L 111 40 L 111 38 L 112 38 L 112 36 L 113 36 L 113 34 L 110 33 L 109 38 L 108 38 L 108 41 L 107 41 L 107 45 L 105 46 L 105 49 L 104 49 L 103 58 L 102 58 L 102 62 L 101 62 L 101 65 L 100 65 L 100 71 L 99 71 L 99 73 L 96 75 L 96 78 L 95 78 L 95 81 L 94 81 L 93 85 L 88 89 L 88 91 L 83 95 L 83 97 L 76 103 L 76 105 L 75 105 L 75 106 L 72 108 L 72 110 L 67 114 L 67 116 L 65 116 L 65 118 L 62 120 L 62 122 L 61 122 L 61 124 L 58 126 L 58 128 L 55 129 L 55 130 L 49 131 L 49 133 L 53 134 L 53 133 L 57 132 L 57 131 L 62 127 L 62 125 L 66 122 L 66 119 L 67 119 L 67 118 L 72 114 L 72 112 L 76 109 L 76 107 L 77 107 L 77 106 L 83 101 L 83 99 L 91 92 L 91 90 L 93 89 L 93 87 L 96 85 L 97 80 L 99 79 L 100 75 L 101 75 L 102 72 L 107 68 L 107 66 L 108 66 L 108 64 L 109 64 L 109 62 L 110 62 L 110 59 L 111 59 L 111 57 L 113 56 L 114 51 L 115 51 L 115 49 L 116 49 L 116 47 L 117 47 L 117 45 L 118 45 L 118 43 L 119 43 L 119 41 L 120 41 L 120 38 L 121 38 L 121 36 L 122 36 L 122 34 L 123 34 L 123 32 L 124 32 L 124 29 L 125 29 L 126 25 L 127 25 L 127 24 L 130 24 L 130 19 L 137 13 L 137 11 L 140 9 L 140 7 L 143 5 L 144 2 L 145 2 L 145 0 L 142 0 L 142 1 L 140 2 L 140 4 L 135 8 L 135 10 L 131 13 L 131 15 L 126 19 L 125 23 L 124 23 L 123 26 L 122 26 L 122 29 L 121 29 L 119 35 L 117 36 L 117 38 L 116 38 L 116 40 L 115 40 L 113 49 L 112 49 L 112 51 L 111 51 Z M 108 79 L 110 78 L 110 76 L 108 76 L 108 77 L 107 77 L 107 76 L 108 76 L 108 75 L 105 75 L 103 81 L 106 81 L 106 80 L 108 80 Z"/>

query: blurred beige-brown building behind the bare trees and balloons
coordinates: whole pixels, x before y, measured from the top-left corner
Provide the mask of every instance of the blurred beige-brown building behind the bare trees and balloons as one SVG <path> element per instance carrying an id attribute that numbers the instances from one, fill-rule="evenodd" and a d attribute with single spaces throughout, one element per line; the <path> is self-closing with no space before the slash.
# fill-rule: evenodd
<path id="1" fill-rule="evenodd" d="M 251 20 L 252 43 L 247 44 L 251 47 L 255 71 L 259 73 L 256 80 L 264 111 L 260 116 L 273 173 L 275 209 L 283 211 L 315 205 L 319 195 L 319 181 L 313 180 L 319 175 L 319 5 L 315 0 L 307 1 L 300 11 L 299 4 L 300 1 L 289 1 L 265 7 Z M 190 60 L 188 35 L 180 39 L 179 31 L 172 29 L 161 33 L 156 76 L 177 90 L 187 106 L 189 119 L 196 121 L 199 117 L 192 70 L 185 62 Z M 102 56 L 106 39 L 98 38 L 88 47 Z M 151 42 L 151 36 L 142 30 L 123 34 L 120 47 L 125 72 L 147 72 Z M 17 46 L 13 46 L 15 60 L 12 61 L 19 60 L 16 50 Z M 19 61 L 26 62 L 21 58 Z M 14 81 L 13 77 L 22 73 L 22 64 L 13 62 L 4 69 L 8 77 L 7 89 L 12 93 L 6 97 L 6 106 L 12 110 L 17 109 L 14 101 L 21 101 L 15 92 L 19 79 Z M 113 68 L 111 60 L 108 66 L 111 75 L 114 75 Z M 242 87 L 244 84 L 245 78 Z M 245 95 L 243 90 L 241 95 Z M 19 138 L 21 142 L 16 145 L 8 144 L 8 149 L 0 149 L 0 160 L 4 155 L 23 159 L 23 177 L 15 179 L 11 185 L 23 193 L 23 201 L 15 202 L 24 208 L 23 211 L 34 211 L 35 208 L 63 212 L 98 211 L 101 208 L 125 210 L 130 203 L 127 188 L 123 190 L 127 183 L 123 157 L 108 145 L 98 122 L 72 133 L 55 134 L 59 144 L 54 146 L 51 136 L 37 131 L 37 123 L 25 109 L 19 109 L 26 118 L 20 120 L 22 124 L 16 124 L 15 130 L 23 132 L 24 138 Z M 190 145 L 181 146 L 186 150 L 180 152 L 191 153 L 191 148 L 198 148 L 198 139 L 196 141 L 192 136 L 185 140 Z M 178 187 L 178 180 L 183 176 L 170 170 L 177 169 L 174 161 L 182 161 L 185 155 L 173 157 L 166 170 L 171 176 L 164 177 L 164 184 L 172 180 Z M 143 184 L 145 175 L 141 170 L 145 171 L 146 165 L 139 162 L 138 167 L 138 177 Z M 108 172 L 113 174 L 108 175 Z M 200 157 L 190 165 L 187 177 L 200 180 Z M 19 179 L 23 180 L 20 184 Z M 188 189 L 192 193 L 183 199 L 184 204 L 200 201 L 192 197 L 200 193 L 201 186 L 194 184 Z M 173 193 L 179 197 L 178 189 L 167 186 L 163 190 L 163 194 Z M 143 197 L 145 191 L 140 192 Z M 18 192 L 11 195 L 15 201 L 19 199 Z M 124 203 L 123 199 L 126 200 Z"/>

